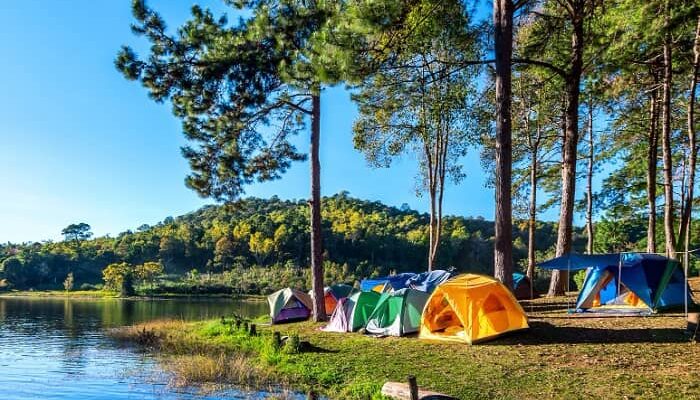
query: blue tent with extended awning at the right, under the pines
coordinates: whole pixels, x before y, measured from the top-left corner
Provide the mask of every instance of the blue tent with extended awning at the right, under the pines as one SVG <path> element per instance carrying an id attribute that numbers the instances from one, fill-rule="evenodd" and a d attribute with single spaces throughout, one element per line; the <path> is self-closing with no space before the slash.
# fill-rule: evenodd
<path id="1" fill-rule="evenodd" d="M 678 262 L 657 254 L 567 254 L 538 265 L 588 269 L 576 300 L 579 311 L 655 311 L 693 303 Z"/>

